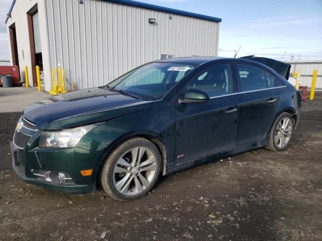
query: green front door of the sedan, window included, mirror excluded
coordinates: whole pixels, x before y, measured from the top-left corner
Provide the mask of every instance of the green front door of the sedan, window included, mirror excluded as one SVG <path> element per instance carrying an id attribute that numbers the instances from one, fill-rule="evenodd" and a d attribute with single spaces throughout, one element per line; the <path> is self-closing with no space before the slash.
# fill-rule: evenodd
<path id="1" fill-rule="evenodd" d="M 176 164 L 234 148 L 239 99 L 233 87 L 230 64 L 223 63 L 206 67 L 179 93 L 182 97 L 188 89 L 196 88 L 210 99 L 177 105 Z"/>

